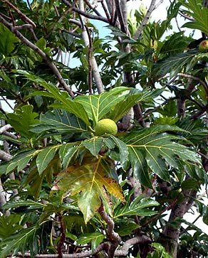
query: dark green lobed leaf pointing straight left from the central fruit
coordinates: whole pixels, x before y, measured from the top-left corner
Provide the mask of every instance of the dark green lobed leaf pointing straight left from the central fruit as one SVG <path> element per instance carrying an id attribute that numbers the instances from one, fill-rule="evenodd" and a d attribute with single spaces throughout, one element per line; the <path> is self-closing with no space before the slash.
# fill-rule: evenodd
<path id="1" fill-rule="evenodd" d="M 40 117 L 38 124 L 33 124 L 30 131 L 37 134 L 43 131 L 57 131 L 57 134 L 88 131 L 85 123 L 65 110 L 55 109 Z"/>

